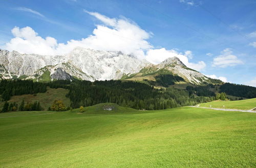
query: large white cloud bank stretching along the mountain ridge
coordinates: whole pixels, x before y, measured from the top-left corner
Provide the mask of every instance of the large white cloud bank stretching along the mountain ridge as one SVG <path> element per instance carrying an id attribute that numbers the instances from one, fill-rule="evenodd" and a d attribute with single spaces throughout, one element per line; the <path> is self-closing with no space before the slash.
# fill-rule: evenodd
<path id="1" fill-rule="evenodd" d="M 206 64 L 203 61 L 190 63 L 193 58 L 190 50 L 179 53 L 175 49 L 155 49 L 147 39 L 153 34 L 141 29 L 133 21 L 122 18 L 109 18 L 97 12 L 84 12 L 96 17 L 103 24 L 96 25 L 92 35 L 81 40 L 69 40 L 67 43 L 57 43 L 53 37 L 40 37 L 29 26 L 14 27 L 14 36 L 1 48 L 16 50 L 20 53 L 36 53 L 44 55 L 62 55 L 72 51 L 75 47 L 92 48 L 97 50 L 122 51 L 134 54 L 139 59 L 146 59 L 153 64 L 158 64 L 170 57 L 178 57 L 186 66 L 195 70 L 202 70 Z"/>

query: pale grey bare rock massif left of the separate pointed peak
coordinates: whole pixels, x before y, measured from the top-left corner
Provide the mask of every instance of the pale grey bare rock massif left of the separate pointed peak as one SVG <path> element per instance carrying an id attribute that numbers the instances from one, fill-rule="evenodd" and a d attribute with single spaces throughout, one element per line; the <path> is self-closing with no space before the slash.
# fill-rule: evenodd
<path id="1" fill-rule="evenodd" d="M 65 55 L 21 54 L 16 51 L 0 50 L 1 78 L 38 78 L 46 71 L 53 75 L 55 69 L 61 68 L 71 76 L 83 80 L 110 80 L 139 72 L 148 64 L 150 63 L 145 60 L 138 60 L 120 51 L 81 47 Z"/>

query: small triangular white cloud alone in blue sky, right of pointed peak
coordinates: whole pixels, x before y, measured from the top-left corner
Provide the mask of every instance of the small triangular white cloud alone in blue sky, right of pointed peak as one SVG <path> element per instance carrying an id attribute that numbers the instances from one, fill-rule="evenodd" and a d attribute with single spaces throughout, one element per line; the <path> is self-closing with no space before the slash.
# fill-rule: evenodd
<path id="1" fill-rule="evenodd" d="M 239 60 L 236 55 L 232 54 L 231 48 L 226 48 L 221 51 L 221 54 L 218 57 L 214 58 L 212 66 L 225 68 L 228 66 L 236 66 L 239 64 L 243 64 L 243 62 Z"/>

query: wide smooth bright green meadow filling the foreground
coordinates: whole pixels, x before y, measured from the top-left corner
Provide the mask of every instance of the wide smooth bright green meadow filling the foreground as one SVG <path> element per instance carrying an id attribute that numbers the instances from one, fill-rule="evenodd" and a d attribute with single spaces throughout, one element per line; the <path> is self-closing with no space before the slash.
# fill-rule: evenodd
<path id="1" fill-rule="evenodd" d="M 0 114 L 0 166 L 256 166 L 254 113 L 103 105 Z"/>

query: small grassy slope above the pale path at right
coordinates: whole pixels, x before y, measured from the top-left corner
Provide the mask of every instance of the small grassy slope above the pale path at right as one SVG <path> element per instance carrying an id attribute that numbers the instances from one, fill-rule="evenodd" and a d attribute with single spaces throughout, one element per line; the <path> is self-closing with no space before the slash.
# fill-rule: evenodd
<path id="1" fill-rule="evenodd" d="M 201 103 L 200 107 L 214 107 L 214 108 L 232 108 L 232 109 L 252 109 L 256 107 L 256 98 L 246 99 L 246 100 L 237 100 L 237 101 L 222 101 L 216 100 L 208 103 Z"/>

